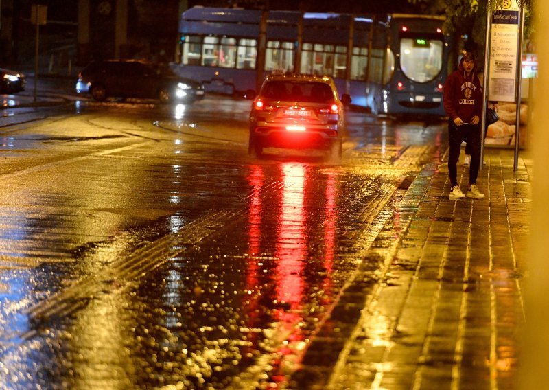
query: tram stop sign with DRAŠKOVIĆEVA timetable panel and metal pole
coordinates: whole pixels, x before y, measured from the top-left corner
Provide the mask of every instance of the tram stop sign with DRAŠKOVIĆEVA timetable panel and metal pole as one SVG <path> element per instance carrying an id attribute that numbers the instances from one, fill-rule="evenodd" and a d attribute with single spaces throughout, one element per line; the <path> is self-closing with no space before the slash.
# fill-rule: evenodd
<path id="1" fill-rule="evenodd" d="M 489 13 L 490 14 L 490 13 Z M 489 27 L 489 82 L 484 82 L 488 100 L 516 102 L 515 124 L 515 170 L 518 165 L 519 126 L 521 103 L 521 61 L 524 12 L 517 0 L 504 0 L 501 10 L 491 12 Z M 488 34 L 487 34 L 488 35 Z M 487 90 L 488 89 L 488 90 Z M 486 98 L 484 102 L 486 102 Z M 484 124 L 483 119 L 483 124 Z M 484 126 L 482 127 L 484 131 Z M 482 154 L 482 153 L 481 153 Z"/>

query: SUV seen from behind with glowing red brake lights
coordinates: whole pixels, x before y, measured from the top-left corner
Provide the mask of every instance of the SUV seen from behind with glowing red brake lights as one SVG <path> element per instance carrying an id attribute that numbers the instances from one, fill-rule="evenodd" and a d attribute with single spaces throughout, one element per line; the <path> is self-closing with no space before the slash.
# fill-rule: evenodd
<path id="1" fill-rule="evenodd" d="M 344 104 L 328 76 L 273 73 L 264 80 L 250 112 L 248 152 L 257 157 L 263 148 L 328 150 L 342 154 Z"/>

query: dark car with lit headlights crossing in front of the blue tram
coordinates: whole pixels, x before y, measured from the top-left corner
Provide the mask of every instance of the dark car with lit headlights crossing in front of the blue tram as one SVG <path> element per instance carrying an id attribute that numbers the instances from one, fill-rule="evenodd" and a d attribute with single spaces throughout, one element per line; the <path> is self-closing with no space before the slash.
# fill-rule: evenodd
<path id="1" fill-rule="evenodd" d="M 190 103 L 203 98 L 204 87 L 177 76 L 167 66 L 141 60 L 105 60 L 82 69 L 76 92 L 90 93 L 98 101 L 110 97 Z"/>

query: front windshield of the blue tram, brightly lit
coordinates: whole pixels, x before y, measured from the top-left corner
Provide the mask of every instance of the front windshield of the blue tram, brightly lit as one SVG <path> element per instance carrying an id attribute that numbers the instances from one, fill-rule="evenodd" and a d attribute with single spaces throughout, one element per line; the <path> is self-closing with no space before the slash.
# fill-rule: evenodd
<path id="1" fill-rule="evenodd" d="M 439 75 L 443 62 L 443 41 L 422 36 L 401 37 L 400 67 L 417 82 L 429 82 Z"/>

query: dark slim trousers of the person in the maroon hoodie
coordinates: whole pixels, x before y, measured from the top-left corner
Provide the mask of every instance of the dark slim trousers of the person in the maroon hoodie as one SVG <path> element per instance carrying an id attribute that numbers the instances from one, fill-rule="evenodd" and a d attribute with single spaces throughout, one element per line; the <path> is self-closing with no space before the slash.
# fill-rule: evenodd
<path id="1" fill-rule="evenodd" d="M 480 167 L 480 126 L 464 124 L 456 126 L 450 121 L 448 124 L 450 153 L 448 157 L 448 174 L 452 187 L 458 185 L 458 160 L 461 151 L 461 143 L 467 142 L 470 146 L 471 165 L 469 165 L 469 185 L 476 184 L 478 168 Z"/>

